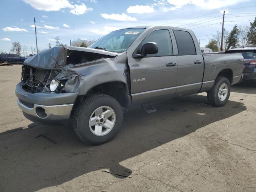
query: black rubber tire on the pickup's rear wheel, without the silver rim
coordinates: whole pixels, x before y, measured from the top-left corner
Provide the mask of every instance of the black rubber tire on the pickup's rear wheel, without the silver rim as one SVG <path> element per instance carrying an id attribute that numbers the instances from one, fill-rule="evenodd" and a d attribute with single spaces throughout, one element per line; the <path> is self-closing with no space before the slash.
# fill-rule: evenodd
<path id="1" fill-rule="evenodd" d="M 228 93 L 227 93 L 225 100 L 221 101 L 218 96 L 218 92 L 219 92 L 220 86 L 224 83 L 228 86 Z M 214 82 L 214 86 L 212 87 L 212 89 L 207 92 L 208 101 L 213 106 L 220 107 L 220 106 L 224 106 L 226 104 L 229 96 L 230 96 L 230 82 L 229 82 L 228 78 L 218 76 Z"/>

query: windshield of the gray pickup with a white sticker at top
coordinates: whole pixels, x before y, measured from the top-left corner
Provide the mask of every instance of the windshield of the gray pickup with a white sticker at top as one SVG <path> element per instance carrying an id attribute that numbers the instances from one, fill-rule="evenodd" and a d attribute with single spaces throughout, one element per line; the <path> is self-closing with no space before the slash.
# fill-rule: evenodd
<path id="1" fill-rule="evenodd" d="M 121 53 L 128 49 L 143 31 L 143 28 L 113 31 L 94 42 L 89 48 L 104 49 L 106 51 Z"/>

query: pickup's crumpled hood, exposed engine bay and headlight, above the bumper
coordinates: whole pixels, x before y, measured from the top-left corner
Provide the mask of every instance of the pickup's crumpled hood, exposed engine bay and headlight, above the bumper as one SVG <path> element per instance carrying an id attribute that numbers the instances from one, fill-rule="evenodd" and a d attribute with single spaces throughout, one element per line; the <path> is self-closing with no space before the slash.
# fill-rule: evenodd
<path id="1" fill-rule="evenodd" d="M 54 47 L 26 59 L 22 66 L 22 88 L 30 93 L 78 92 L 80 74 L 70 66 L 115 57 L 79 50 L 88 48 L 73 49 L 76 50 Z"/>

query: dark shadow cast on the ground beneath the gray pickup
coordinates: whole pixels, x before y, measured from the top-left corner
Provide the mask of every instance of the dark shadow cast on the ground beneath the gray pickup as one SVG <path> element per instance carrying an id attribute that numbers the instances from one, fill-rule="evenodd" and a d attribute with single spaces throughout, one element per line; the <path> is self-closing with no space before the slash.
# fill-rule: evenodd
<path id="1" fill-rule="evenodd" d="M 206 96 L 192 95 L 154 103 L 157 112 L 151 114 L 139 107 L 124 110 L 120 133 L 100 146 L 81 142 L 70 124 L 33 123 L 31 129 L 1 134 L 0 191 L 32 192 L 103 168 L 125 178 L 132 168 L 120 162 L 246 110 L 240 102 L 221 108 L 207 102 Z"/>

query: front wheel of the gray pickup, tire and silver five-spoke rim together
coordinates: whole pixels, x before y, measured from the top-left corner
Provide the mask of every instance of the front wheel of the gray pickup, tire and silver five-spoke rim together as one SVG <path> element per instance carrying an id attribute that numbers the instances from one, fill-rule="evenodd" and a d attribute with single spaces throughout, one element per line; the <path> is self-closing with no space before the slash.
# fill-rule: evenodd
<path id="1" fill-rule="evenodd" d="M 115 98 L 105 94 L 94 94 L 76 108 L 73 128 L 82 141 L 98 145 L 116 136 L 122 120 L 122 108 Z"/>

